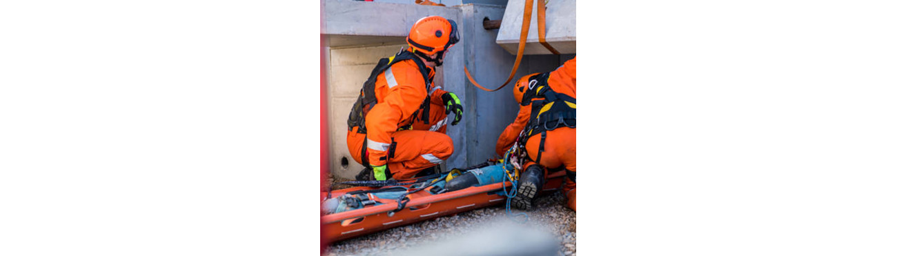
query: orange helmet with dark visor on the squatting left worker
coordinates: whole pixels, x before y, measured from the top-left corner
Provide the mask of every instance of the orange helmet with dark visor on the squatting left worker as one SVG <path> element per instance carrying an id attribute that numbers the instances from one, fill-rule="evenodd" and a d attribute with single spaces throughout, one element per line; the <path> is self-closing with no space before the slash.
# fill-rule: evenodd
<path id="1" fill-rule="evenodd" d="M 440 16 L 427 16 L 417 20 L 405 38 L 411 49 L 426 55 L 441 53 L 460 40 L 455 21 Z"/>

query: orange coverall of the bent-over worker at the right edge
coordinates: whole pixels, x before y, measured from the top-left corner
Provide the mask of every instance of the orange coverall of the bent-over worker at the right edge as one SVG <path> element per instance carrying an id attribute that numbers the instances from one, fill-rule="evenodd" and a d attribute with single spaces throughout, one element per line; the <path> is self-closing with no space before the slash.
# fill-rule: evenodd
<path id="1" fill-rule="evenodd" d="M 564 93 L 574 99 L 576 98 L 576 57 L 552 71 L 548 77 L 548 86 L 556 93 Z M 495 145 L 496 154 L 504 155 L 514 145 L 514 142 L 517 141 L 517 137 L 520 135 L 520 131 L 526 128 L 529 123 L 532 106 L 533 104 L 528 104 L 527 106 L 520 105 L 517 119 L 514 119 L 514 122 L 504 129 L 498 143 Z M 541 140 L 542 137 L 539 134 L 533 135 L 527 140 L 527 145 L 524 147 L 527 148 L 530 160 L 535 160 L 536 155 L 539 154 L 539 143 Z M 531 164 L 533 164 L 531 161 L 526 163 L 524 170 Z M 562 127 L 547 131 L 544 152 L 538 164 L 552 169 L 564 166 L 570 172 L 576 173 L 576 128 Z M 547 175 L 547 173 L 543 173 L 543 175 Z M 575 190 L 576 183 L 567 179 L 563 191 L 569 199 L 568 205 L 574 211 L 576 210 Z"/>

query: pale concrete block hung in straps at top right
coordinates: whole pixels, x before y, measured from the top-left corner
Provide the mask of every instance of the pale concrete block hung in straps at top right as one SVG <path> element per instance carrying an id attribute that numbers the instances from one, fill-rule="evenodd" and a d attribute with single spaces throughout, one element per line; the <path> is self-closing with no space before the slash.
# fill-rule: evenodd
<path id="1" fill-rule="evenodd" d="M 537 0 L 536 0 L 537 1 Z M 536 1 L 527 34 L 525 55 L 552 54 L 539 43 Z M 516 55 L 523 25 L 524 0 L 510 0 L 501 18 L 501 29 L 495 40 L 503 49 Z M 551 0 L 545 5 L 545 41 L 562 54 L 576 53 L 576 0 Z M 493 19 L 494 20 L 494 19 Z"/>

